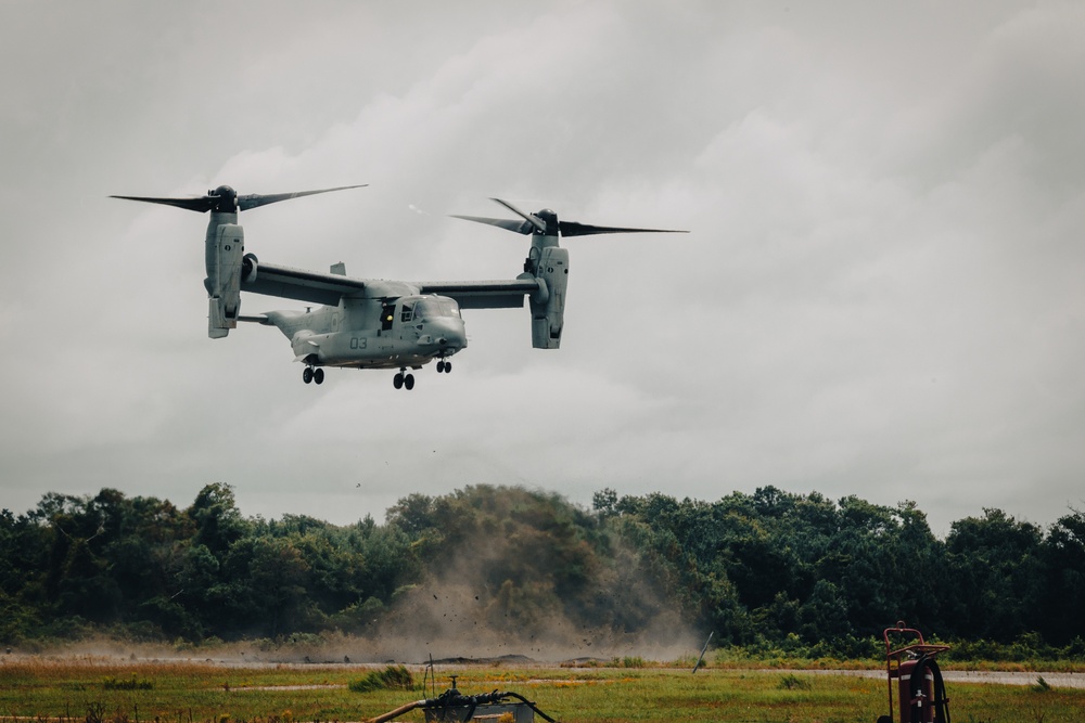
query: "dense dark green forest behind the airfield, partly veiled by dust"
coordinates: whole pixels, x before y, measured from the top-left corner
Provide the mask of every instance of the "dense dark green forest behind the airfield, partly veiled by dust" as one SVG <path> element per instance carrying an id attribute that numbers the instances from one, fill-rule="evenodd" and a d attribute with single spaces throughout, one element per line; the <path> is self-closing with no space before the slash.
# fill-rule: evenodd
<path id="1" fill-rule="evenodd" d="M 916 505 L 771 487 L 715 502 L 475 486 L 334 526 L 113 489 L 0 513 L 0 644 L 200 643 L 487 631 L 592 641 L 710 631 L 722 646 L 869 656 L 907 620 L 966 650 L 1085 657 L 1085 514 L 998 509 L 932 534 Z M 1017 646 L 1017 648 L 1014 648 Z M 600 646 L 601 647 L 601 646 Z"/>

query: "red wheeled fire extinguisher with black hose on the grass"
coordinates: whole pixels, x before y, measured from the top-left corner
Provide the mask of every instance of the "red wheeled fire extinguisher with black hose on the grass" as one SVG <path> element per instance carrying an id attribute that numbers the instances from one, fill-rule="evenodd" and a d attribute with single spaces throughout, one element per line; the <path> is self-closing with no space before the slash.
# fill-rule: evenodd
<path id="1" fill-rule="evenodd" d="M 917 641 L 893 648 L 890 636 Z M 902 620 L 896 628 L 886 628 L 885 673 L 889 677 L 889 715 L 878 723 L 893 723 L 893 679 L 897 680 L 901 723 L 949 723 L 949 698 L 945 694 L 942 671 L 934 657 L 949 649 L 948 645 L 931 645 L 915 628 Z M 899 643 L 897 643 L 899 644 Z"/>

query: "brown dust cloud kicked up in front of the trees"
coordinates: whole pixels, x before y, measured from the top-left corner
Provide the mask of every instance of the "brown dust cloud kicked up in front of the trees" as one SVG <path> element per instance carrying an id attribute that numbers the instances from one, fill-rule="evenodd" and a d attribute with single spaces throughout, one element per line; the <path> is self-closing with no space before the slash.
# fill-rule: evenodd
<path id="1" fill-rule="evenodd" d="M 551 548 L 524 542 L 495 535 L 444 551 L 446 561 L 382 619 L 371 637 L 374 656 L 663 661 L 700 651 L 703 636 L 665 602 L 664 583 L 633 552 L 614 550 L 609 563 L 577 559 L 575 573 L 562 576 L 560 563 L 546 559 Z"/>

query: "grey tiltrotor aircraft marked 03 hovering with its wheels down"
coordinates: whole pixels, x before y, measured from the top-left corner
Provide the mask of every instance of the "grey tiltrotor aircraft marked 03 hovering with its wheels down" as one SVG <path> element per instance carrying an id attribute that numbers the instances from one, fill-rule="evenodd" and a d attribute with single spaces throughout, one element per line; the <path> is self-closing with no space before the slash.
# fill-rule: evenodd
<path id="1" fill-rule="evenodd" d="M 532 344 L 537 349 L 557 349 L 564 325 L 569 251 L 558 245 L 560 236 L 600 233 L 686 233 L 663 229 L 623 229 L 559 221 L 545 209 L 527 214 L 494 198 L 520 220 L 457 216 L 456 218 L 531 234 L 532 246 L 524 271 L 507 281 L 406 282 L 354 279 L 343 263 L 329 273 L 305 271 L 258 261 L 245 253 L 240 211 L 268 204 L 331 191 L 358 189 L 345 185 L 319 191 L 240 196 L 228 185 L 190 198 L 111 196 L 128 201 L 165 204 L 201 214 L 210 211 L 207 223 L 206 268 L 207 335 L 221 338 L 238 322 L 276 326 L 290 339 L 294 359 L 305 364 L 306 384 L 324 380 L 324 366 L 398 370 L 397 389 L 414 387 L 408 370 L 419 370 L 436 359 L 437 372 L 449 373 L 449 358 L 467 348 L 460 309 L 499 309 L 524 306 L 532 312 Z M 241 292 L 277 296 L 322 305 L 304 311 L 268 311 L 255 317 L 241 314 Z"/>

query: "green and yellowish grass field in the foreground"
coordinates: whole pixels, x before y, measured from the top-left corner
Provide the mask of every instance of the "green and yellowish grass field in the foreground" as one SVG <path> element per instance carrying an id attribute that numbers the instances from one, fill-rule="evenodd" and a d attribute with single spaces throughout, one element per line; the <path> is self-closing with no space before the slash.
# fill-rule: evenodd
<path id="1" fill-rule="evenodd" d="M 430 690 L 355 693 L 372 669 L 244 668 L 192 662 L 27 658 L 0 663 L 0 723 L 27 719 L 117 723 L 363 721 Z M 423 669 L 412 668 L 420 682 Z M 732 668 L 437 667 L 437 693 L 459 676 L 467 695 L 522 694 L 559 721 L 875 723 L 888 712 L 884 681 Z M 1085 720 L 1085 690 L 947 684 L 958 723 Z M 421 721 L 420 712 L 404 721 Z M 541 719 L 539 723 L 541 723 Z"/>

